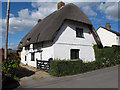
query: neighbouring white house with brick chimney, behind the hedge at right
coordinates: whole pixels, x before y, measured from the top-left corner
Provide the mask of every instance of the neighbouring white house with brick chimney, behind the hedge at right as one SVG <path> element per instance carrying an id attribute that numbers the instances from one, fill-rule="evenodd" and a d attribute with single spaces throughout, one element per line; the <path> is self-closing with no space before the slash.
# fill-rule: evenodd
<path id="1" fill-rule="evenodd" d="M 100 37 L 100 40 L 103 46 L 112 46 L 112 45 L 120 45 L 120 33 L 111 30 L 110 23 L 107 23 L 105 27 L 100 26 L 97 29 L 97 33 Z"/>

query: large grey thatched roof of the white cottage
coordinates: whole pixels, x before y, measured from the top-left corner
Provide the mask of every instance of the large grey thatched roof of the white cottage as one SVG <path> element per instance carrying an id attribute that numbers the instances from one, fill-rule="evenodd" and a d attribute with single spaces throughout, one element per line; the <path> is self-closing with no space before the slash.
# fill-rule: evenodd
<path id="1" fill-rule="evenodd" d="M 70 3 L 65 5 L 61 9 L 56 10 L 55 12 L 44 18 L 41 22 L 37 23 L 37 25 L 21 40 L 18 48 L 22 48 L 23 46 L 27 46 L 32 43 L 52 41 L 57 30 L 59 30 L 65 20 L 73 20 L 92 26 L 91 21 L 80 10 L 80 8 Z M 97 35 L 96 32 L 93 33 Z M 27 42 L 27 40 L 29 40 L 29 42 Z M 98 42 L 101 43 L 100 41 Z"/>

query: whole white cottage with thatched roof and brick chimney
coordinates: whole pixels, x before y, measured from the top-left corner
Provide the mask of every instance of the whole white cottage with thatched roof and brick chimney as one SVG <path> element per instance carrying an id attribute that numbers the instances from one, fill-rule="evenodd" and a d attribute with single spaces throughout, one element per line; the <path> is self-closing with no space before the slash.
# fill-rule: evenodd
<path id="1" fill-rule="evenodd" d="M 76 5 L 58 3 L 58 9 L 21 40 L 21 62 L 36 67 L 36 59 L 82 59 L 94 61 L 93 45 L 101 41 L 89 18 Z"/>

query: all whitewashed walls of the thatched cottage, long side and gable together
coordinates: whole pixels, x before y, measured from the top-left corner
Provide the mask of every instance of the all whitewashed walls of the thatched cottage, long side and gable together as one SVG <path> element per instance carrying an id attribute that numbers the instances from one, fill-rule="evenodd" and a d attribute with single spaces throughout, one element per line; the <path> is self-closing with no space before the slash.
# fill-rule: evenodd
<path id="1" fill-rule="evenodd" d="M 83 28 L 84 38 L 76 38 L 76 27 Z M 70 59 L 70 50 L 79 49 L 79 58 L 84 62 L 94 61 L 93 44 L 96 44 L 93 35 L 89 34 L 90 30 L 87 26 L 83 26 L 73 22 L 65 22 L 54 39 L 53 45 L 49 42 L 43 44 L 42 52 L 33 50 L 33 44 L 30 45 L 30 50 L 23 50 L 21 52 L 21 62 L 29 66 L 36 67 L 36 59 L 48 60 L 53 59 Z M 38 45 L 41 46 L 41 45 Z M 31 61 L 31 53 L 35 52 L 35 61 Z M 25 55 L 27 60 L 25 61 Z"/>

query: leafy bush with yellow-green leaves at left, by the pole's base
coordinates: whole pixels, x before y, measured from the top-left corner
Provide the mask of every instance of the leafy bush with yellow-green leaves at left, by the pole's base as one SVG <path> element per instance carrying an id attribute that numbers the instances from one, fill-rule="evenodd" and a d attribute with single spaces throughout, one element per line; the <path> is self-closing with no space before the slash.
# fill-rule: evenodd
<path id="1" fill-rule="evenodd" d="M 16 77 L 16 71 L 19 67 L 20 58 L 15 53 L 8 53 L 8 59 L 2 61 L 2 73 L 11 78 Z"/>

